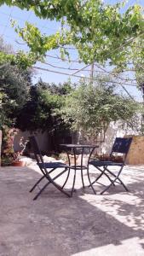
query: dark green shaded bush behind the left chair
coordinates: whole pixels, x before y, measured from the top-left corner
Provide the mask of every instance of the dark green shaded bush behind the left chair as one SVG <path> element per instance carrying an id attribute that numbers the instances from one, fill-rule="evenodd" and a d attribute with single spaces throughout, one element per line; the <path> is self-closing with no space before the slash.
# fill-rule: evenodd
<path id="1" fill-rule="evenodd" d="M 47 84 L 40 80 L 31 87 L 30 99 L 22 108 L 16 125 L 25 131 L 55 131 L 66 129 L 60 114 L 55 114 L 55 109 L 60 109 L 64 104 L 66 94 L 72 90 L 70 84 Z"/>

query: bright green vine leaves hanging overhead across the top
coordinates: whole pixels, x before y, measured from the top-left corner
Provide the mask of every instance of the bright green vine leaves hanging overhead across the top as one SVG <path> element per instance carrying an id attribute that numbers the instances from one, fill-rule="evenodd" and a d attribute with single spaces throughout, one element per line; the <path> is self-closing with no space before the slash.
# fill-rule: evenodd
<path id="1" fill-rule="evenodd" d="M 123 70 L 128 62 L 135 61 L 137 47 L 143 45 L 143 9 L 134 4 L 125 11 L 124 2 L 114 5 L 101 0 L 2 0 L 1 4 L 17 6 L 20 9 L 33 10 L 39 18 L 61 22 L 61 32 L 54 35 L 41 35 L 37 27 L 26 23 L 24 28 L 17 27 L 30 52 L 20 53 L 14 61 L 29 67 L 43 57 L 49 49 L 59 48 L 68 54 L 65 45 L 78 49 L 79 59 L 84 63 L 97 61 Z M 139 58 L 143 59 L 143 46 L 139 49 Z M 9 56 L 10 57 L 10 56 Z"/>

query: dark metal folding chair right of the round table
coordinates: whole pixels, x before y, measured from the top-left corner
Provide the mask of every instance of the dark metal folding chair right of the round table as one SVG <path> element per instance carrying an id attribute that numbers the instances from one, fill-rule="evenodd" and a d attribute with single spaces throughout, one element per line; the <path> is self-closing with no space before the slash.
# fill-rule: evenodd
<path id="1" fill-rule="evenodd" d="M 129 191 L 119 176 L 124 168 L 125 160 L 129 152 L 131 142 L 132 142 L 132 137 L 128 137 L 128 138 L 116 137 L 115 142 L 112 146 L 112 152 L 110 154 L 110 158 L 112 159 L 113 153 L 124 154 L 124 158 L 121 162 L 116 162 L 115 160 L 90 160 L 89 161 L 89 165 L 95 166 L 95 168 L 101 172 L 101 174 L 98 177 L 96 177 L 95 181 L 91 182 L 91 184 L 99 183 L 98 180 L 101 178 L 102 175 L 105 175 L 110 181 L 110 184 L 106 186 L 104 190 L 101 191 L 101 195 L 105 191 L 107 191 L 107 189 L 109 189 L 111 186 L 115 186 L 115 183 L 122 184 L 124 186 L 124 189 L 126 191 Z M 109 166 L 119 166 L 120 169 L 117 172 L 117 175 L 108 169 Z"/>

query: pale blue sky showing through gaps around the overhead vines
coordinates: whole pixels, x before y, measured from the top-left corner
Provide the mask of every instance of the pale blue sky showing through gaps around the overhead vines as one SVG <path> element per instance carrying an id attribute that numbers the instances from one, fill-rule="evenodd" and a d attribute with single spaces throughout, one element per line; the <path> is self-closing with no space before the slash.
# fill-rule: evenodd
<path id="1" fill-rule="evenodd" d="M 117 0 L 105 0 L 104 3 L 118 3 Z M 134 3 L 140 3 L 142 6 L 144 6 L 144 0 L 129 0 L 127 1 L 125 5 L 125 9 L 127 9 L 130 5 L 133 5 Z M 26 44 L 18 37 L 18 35 L 14 32 L 14 28 L 10 26 L 10 20 L 17 20 L 18 25 L 20 27 L 25 26 L 25 22 L 28 21 L 35 26 L 37 26 L 42 33 L 45 34 L 53 34 L 56 31 L 60 30 L 60 24 L 55 21 L 51 20 L 40 20 L 37 18 L 36 15 L 32 11 L 26 11 L 26 10 L 20 10 L 16 7 L 9 8 L 7 5 L 3 5 L 0 7 L 0 35 L 3 37 L 6 44 L 12 44 L 14 51 L 17 51 L 19 49 L 23 49 L 25 51 L 28 50 Z M 55 82 L 56 84 L 62 83 L 64 81 L 67 81 L 69 79 L 68 75 L 64 74 L 58 74 L 54 73 L 61 72 L 61 73 L 75 73 L 75 70 L 66 70 L 66 68 L 71 69 L 80 69 L 84 67 L 84 63 L 78 63 L 74 61 L 78 61 L 78 54 L 77 51 L 72 49 L 70 50 L 71 59 L 74 60 L 73 62 L 68 61 L 61 61 L 60 59 L 57 59 L 57 56 L 60 56 L 60 52 L 58 49 L 51 50 L 48 52 L 49 57 L 47 57 L 46 61 L 49 65 L 43 65 L 42 63 L 37 63 L 37 67 L 44 67 L 49 69 L 53 72 L 43 72 L 43 71 L 37 71 L 34 73 L 33 76 L 33 84 L 37 83 L 37 80 L 39 78 L 42 78 L 45 82 Z M 55 68 L 52 66 L 56 66 L 59 68 Z M 85 68 L 88 71 L 82 71 L 80 73 L 77 73 L 80 77 L 87 76 L 89 77 L 90 73 L 90 67 Z M 99 68 L 95 67 L 95 73 L 97 71 L 100 71 Z M 72 82 L 78 82 L 79 78 L 72 78 Z M 134 86 L 128 86 L 124 85 L 125 88 L 130 92 L 131 96 L 135 97 L 135 100 L 141 100 L 141 93 L 135 88 Z M 122 90 L 122 89 L 121 89 Z"/>

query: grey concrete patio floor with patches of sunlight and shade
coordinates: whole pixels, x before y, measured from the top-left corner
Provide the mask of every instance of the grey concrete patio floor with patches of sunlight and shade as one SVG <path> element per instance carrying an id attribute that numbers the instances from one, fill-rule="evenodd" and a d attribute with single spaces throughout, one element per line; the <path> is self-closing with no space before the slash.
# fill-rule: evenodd
<path id="1" fill-rule="evenodd" d="M 96 184 L 94 195 L 77 177 L 72 198 L 50 185 L 32 201 L 38 177 L 36 166 L 0 169 L 0 256 L 144 255 L 144 166 L 125 166 L 129 193 Z"/>

